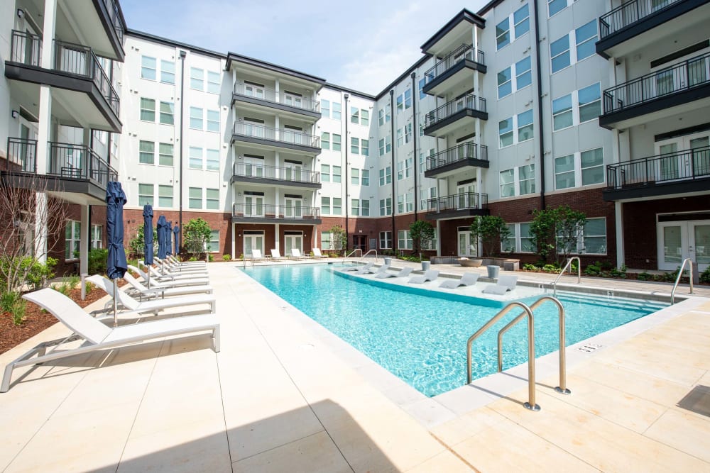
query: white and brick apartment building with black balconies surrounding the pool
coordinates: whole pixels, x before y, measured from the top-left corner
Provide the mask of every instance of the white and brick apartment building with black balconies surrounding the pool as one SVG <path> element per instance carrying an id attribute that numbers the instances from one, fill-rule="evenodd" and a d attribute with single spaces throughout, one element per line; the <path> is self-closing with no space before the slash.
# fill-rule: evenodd
<path id="1" fill-rule="evenodd" d="M 328 250 L 337 246 L 334 226 L 346 230 L 349 250 L 407 252 L 410 223 L 426 219 L 436 228 L 429 255 L 473 256 L 471 221 L 493 214 L 511 232 L 501 251 L 532 262 L 532 212 L 567 204 L 587 216 L 576 249 L 585 264 L 674 269 L 692 257 L 704 269 L 709 4 L 493 0 L 432 28 L 422 58 L 393 71 L 376 95 L 357 91 L 357 77 L 343 87 L 149 33 L 126 30 L 120 55 L 63 35 L 94 48 L 120 107 L 60 114 L 49 136 L 71 135 L 62 140 L 116 169 L 129 199 L 127 238 L 150 203 L 179 226 L 207 220 L 216 255 Z M 18 14 L 11 20 L 3 32 L 14 51 L 12 30 L 35 33 Z M 18 51 L 18 64 L 35 56 L 27 45 Z M 39 116 L 39 102 L 36 115 L 16 105 L 17 84 L 31 81 L 8 64 L 8 109 L 20 110 L 19 120 Z M 65 113 L 65 104 L 52 110 Z M 116 109 L 122 125 L 109 113 Z M 9 138 L 32 136 L 26 128 Z M 41 128 L 38 141 L 50 133 Z M 14 143 L 7 154 L 27 153 Z M 38 163 L 40 148 L 51 145 L 38 143 Z"/>

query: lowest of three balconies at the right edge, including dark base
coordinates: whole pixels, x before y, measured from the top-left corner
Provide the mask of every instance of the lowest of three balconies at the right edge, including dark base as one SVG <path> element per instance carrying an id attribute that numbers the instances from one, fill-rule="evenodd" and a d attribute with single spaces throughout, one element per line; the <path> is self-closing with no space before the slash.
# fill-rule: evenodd
<path id="1" fill-rule="evenodd" d="M 710 147 L 608 165 L 606 185 L 606 201 L 709 191 Z"/>

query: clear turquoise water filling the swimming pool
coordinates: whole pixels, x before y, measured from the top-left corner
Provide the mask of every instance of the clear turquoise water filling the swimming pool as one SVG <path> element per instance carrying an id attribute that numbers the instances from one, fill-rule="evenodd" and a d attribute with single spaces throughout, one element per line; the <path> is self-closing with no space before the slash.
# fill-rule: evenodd
<path id="1" fill-rule="evenodd" d="M 503 304 L 458 296 L 436 297 L 409 288 L 387 289 L 343 277 L 339 265 L 247 268 L 246 274 L 307 316 L 363 352 L 426 396 L 466 384 L 466 340 Z M 394 290 L 400 289 L 400 290 Z M 405 290 L 405 291 L 403 291 Z M 539 296 L 519 299 L 532 304 Z M 664 307 L 663 304 L 601 296 L 559 294 L 571 345 Z M 495 305 L 495 306 L 491 306 Z M 473 345 L 474 379 L 497 371 L 497 333 L 520 311 L 513 310 Z M 535 355 L 559 347 L 557 307 L 547 302 L 535 311 Z M 528 359 L 527 324 L 505 335 L 503 369 Z"/>

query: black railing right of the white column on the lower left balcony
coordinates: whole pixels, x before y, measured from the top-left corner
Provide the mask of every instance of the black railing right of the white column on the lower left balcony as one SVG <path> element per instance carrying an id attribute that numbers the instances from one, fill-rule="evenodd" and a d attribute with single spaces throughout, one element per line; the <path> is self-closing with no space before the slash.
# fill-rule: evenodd
<path id="1" fill-rule="evenodd" d="M 89 179 L 106 187 L 109 181 L 117 181 L 119 174 L 94 150 L 84 145 L 49 143 L 47 174 L 70 179 Z"/>

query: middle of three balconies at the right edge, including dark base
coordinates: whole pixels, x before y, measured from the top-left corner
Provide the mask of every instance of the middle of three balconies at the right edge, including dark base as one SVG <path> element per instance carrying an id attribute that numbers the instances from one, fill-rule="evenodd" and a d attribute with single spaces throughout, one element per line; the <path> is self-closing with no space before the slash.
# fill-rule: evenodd
<path id="1" fill-rule="evenodd" d="M 603 101 L 599 125 L 609 129 L 704 108 L 710 105 L 710 53 L 606 89 Z"/>

